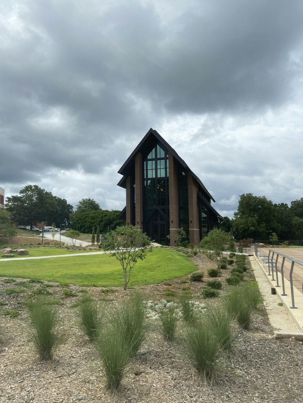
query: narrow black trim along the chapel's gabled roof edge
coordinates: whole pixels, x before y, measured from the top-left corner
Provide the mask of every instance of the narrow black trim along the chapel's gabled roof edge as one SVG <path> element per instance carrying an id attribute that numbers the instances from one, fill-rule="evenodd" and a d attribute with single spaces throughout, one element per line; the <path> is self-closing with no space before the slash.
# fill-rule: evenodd
<path id="1" fill-rule="evenodd" d="M 128 176 L 128 166 L 129 164 L 133 163 L 133 160 L 135 160 L 136 155 L 140 152 L 141 148 L 143 147 L 145 141 L 147 140 L 147 138 L 150 135 L 154 135 L 154 137 L 156 137 L 156 139 L 158 141 L 160 141 L 160 143 L 162 143 L 164 145 L 164 147 L 166 147 L 166 149 L 173 154 L 173 156 L 176 158 L 176 160 L 185 168 L 187 169 L 188 172 L 191 173 L 191 175 L 196 179 L 196 181 L 199 183 L 199 185 L 202 187 L 202 189 L 204 189 L 204 191 L 208 194 L 208 196 L 210 197 L 210 199 L 213 200 L 213 202 L 215 202 L 215 199 L 213 198 L 213 196 L 208 192 L 208 190 L 206 189 L 206 187 L 203 185 L 203 183 L 200 181 L 200 179 L 197 177 L 196 174 L 194 174 L 194 172 L 189 168 L 189 166 L 185 163 L 184 160 L 182 160 L 182 158 L 177 154 L 177 152 L 173 149 L 173 147 L 171 147 L 162 136 L 160 136 L 160 134 L 150 128 L 149 131 L 146 133 L 146 135 L 143 137 L 143 139 L 140 141 L 140 143 L 137 145 L 137 147 L 135 148 L 135 150 L 130 154 L 130 156 L 127 158 L 127 160 L 124 162 L 124 164 L 121 166 L 121 168 L 118 170 L 118 173 L 123 175 L 125 177 L 122 178 L 120 180 L 120 182 L 118 183 L 118 186 L 121 187 L 126 187 L 126 183 L 124 183 L 124 181 L 126 180 L 126 176 Z"/>

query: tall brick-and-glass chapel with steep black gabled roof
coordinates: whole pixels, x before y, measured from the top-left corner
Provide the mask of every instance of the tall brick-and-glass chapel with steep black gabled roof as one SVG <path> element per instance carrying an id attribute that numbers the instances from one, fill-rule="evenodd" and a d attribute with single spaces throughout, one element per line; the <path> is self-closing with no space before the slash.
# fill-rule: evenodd
<path id="1" fill-rule="evenodd" d="M 126 189 L 126 207 L 119 218 L 138 225 L 157 243 L 174 245 L 183 227 L 187 241 L 198 244 L 218 226 L 220 215 L 212 195 L 175 150 L 153 129 L 122 165 L 118 186 Z"/>

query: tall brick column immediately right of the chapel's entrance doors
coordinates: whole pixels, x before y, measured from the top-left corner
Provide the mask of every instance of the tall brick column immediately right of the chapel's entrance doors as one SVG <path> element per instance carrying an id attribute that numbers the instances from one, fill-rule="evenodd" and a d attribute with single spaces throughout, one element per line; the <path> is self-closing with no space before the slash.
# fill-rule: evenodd
<path id="1" fill-rule="evenodd" d="M 179 184 L 178 184 L 178 163 L 173 154 L 168 152 L 169 164 L 169 231 L 170 246 L 175 246 L 175 235 L 179 228 Z"/>

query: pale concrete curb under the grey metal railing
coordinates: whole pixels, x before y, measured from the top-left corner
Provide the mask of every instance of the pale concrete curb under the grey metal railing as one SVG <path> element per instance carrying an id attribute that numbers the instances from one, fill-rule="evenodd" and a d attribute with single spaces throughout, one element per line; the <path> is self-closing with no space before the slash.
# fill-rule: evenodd
<path id="1" fill-rule="evenodd" d="M 298 341 L 303 341 L 303 303 L 301 304 L 301 307 L 298 306 L 298 309 L 296 310 L 290 309 L 288 307 L 288 305 L 291 305 L 289 282 L 287 282 L 288 284 L 286 285 L 286 279 L 284 279 L 285 291 L 288 293 L 288 295 L 280 295 L 280 293 L 282 293 L 282 287 L 276 288 L 276 282 L 272 281 L 271 276 L 269 277 L 267 275 L 268 273 L 266 270 L 264 270 L 258 259 L 255 256 L 250 256 L 249 260 L 255 273 L 255 278 L 258 282 L 259 289 L 264 297 L 264 305 L 267 311 L 269 323 L 274 328 L 274 337 L 276 339 L 294 338 Z M 271 288 L 276 288 L 276 295 L 271 294 Z M 295 291 L 299 293 L 298 290 Z M 295 300 L 299 301 L 298 296 L 296 295 Z M 303 300 L 302 295 L 301 300 Z M 279 302 L 282 302 L 283 306 L 279 306 Z M 294 311 L 297 312 L 294 313 Z"/>

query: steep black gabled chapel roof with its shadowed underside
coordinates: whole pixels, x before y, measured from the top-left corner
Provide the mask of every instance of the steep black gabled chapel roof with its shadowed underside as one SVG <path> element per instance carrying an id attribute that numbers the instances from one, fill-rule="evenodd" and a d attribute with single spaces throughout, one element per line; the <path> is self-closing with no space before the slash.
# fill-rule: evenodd
<path id="1" fill-rule="evenodd" d="M 203 185 L 203 183 L 200 181 L 200 179 L 197 177 L 196 174 L 189 168 L 189 166 L 185 163 L 184 160 L 177 154 L 177 152 L 171 147 L 160 134 L 154 130 L 154 129 L 149 129 L 149 131 L 146 133 L 146 135 L 143 137 L 143 139 L 140 141 L 140 143 L 137 145 L 135 150 L 130 154 L 130 156 L 127 158 L 127 160 L 124 162 L 124 164 L 121 166 L 121 168 L 118 170 L 118 173 L 123 175 L 123 178 L 119 181 L 118 186 L 121 187 L 126 187 L 126 178 L 129 176 L 129 174 L 132 172 L 133 167 L 135 165 L 135 157 L 137 154 L 140 152 L 142 155 L 146 154 L 147 152 L 150 151 L 150 148 L 152 145 L 154 145 L 155 140 L 160 141 L 166 147 L 166 150 L 168 150 L 173 156 L 176 158 L 176 160 L 188 171 L 192 174 L 192 176 L 196 179 L 196 181 L 199 183 L 199 185 L 204 189 L 204 191 L 207 193 L 207 195 L 210 197 L 210 199 L 215 202 L 215 199 L 213 196 L 208 192 L 206 187 Z"/>

